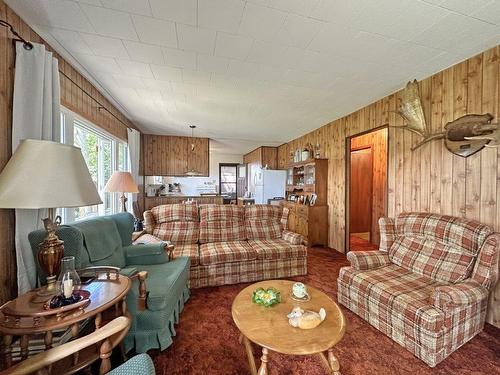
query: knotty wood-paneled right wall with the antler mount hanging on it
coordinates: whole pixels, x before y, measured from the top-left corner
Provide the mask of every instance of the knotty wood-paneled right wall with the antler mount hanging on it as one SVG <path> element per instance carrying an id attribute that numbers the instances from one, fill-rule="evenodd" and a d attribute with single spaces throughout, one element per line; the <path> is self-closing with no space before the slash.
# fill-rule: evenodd
<path id="1" fill-rule="evenodd" d="M 419 83 L 432 131 L 441 131 L 448 121 L 468 113 L 489 112 L 494 121 L 499 120 L 499 53 L 497 46 Z M 400 92 L 396 92 L 279 148 L 280 166 L 290 151 L 307 143 L 319 143 L 321 156 L 329 159 L 329 245 L 338 251 L 345 251 L 346 137 L 384 124 L 402 125 L 395 113 L 399 102 Z M 500 231 L 500 149 L 486 148 L 464 159 L 438 140 L 412 152 L 410 147 L 419 139 L 389 128 L 388 215 L 451 214 L 480 220 Z M 488 321 L 500 326 L 500 283 L 490 299 Z"/>

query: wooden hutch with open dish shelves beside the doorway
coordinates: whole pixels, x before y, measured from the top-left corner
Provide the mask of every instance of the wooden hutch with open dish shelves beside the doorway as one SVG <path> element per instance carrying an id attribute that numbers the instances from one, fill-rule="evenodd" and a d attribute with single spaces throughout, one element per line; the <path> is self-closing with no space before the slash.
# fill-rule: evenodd
<path id="1" fill-rule="evenodd" d="M 309 246 L 328 245 L 328 159 L 310 159 L 289 164 L 287 170 L 286 199 L 281 204 L 288 207 L 288 228 L 302 234 Z M 291 197 L 316 194 L 313 206 L 292 201 Z M 303 198 L 304 200 L 306 198 Z"/>

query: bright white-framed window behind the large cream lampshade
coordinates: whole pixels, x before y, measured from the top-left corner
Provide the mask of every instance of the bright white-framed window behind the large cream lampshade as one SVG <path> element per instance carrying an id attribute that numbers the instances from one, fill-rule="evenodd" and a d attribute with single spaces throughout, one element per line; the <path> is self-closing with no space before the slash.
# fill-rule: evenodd
<path id="1" fill-rule="evenodd" d="M 103 190 L 113 171 L 129 170 L 127 144 L 66 109 L 61 111 L 61 138 L 63 143 L 73 144 L 82 150 L 103 202 L 96 206 L 62 209 L 63 222 L 119 212 L 119 194 Z"/>

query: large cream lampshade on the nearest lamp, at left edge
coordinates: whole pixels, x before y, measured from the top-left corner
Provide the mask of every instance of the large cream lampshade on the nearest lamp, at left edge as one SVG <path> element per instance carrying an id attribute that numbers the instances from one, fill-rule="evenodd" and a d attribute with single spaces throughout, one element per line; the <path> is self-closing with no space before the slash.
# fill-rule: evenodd
<path id="1" fill-rule="evenodd" d="M 102 203 L 78 147 L 21 142 L 0 174 L 0 208 L 82 207 Z"/>

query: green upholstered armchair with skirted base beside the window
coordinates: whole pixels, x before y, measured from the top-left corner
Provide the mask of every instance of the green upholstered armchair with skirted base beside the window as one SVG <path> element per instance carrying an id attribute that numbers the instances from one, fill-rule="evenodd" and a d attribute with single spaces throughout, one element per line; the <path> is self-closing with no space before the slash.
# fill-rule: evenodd
<path id="1" fill-rule="evenodd" d="M 134 280 L 127 295 L 132 315 L 130 331 L 124 340 L 125 349 L 144 353 L 149 349 L 164 350 L 172 344 L 174 324 L 189 298 L 189 258 L 169 260 L 164 243 L 132 244 L 134 218 L 129 213 L 100 216 L 62 225 L 56 234 L 64 241 L 65 256 L 75 257 L 75 266 L 114 266 L 131 276 L 147 271 L 146 309 L 138 306 L 139 282 Z M 33 253 L 46 236 L 45 230 L 28 235 Z M 45 274 L 37 265 L 39 279 Z"/>

